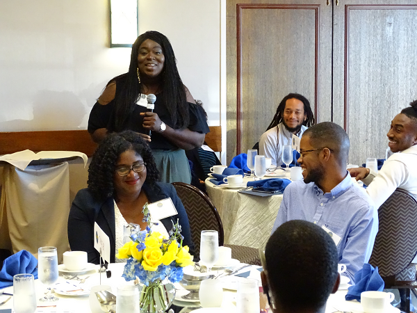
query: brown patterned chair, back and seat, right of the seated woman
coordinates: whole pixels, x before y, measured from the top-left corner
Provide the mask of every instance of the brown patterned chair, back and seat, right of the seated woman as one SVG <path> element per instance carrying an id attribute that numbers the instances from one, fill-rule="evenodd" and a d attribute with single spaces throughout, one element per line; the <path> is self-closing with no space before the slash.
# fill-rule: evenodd
<path id="1" fill-rule="evenodd" d="M 219 246 L 231 248 L 231 257 L 242 263 L 261 265 L 259 250 L 245 246 L 224 245 L 222 220 L 213 202 L 195 186 L 183 182 L 172 183 L 186 209 L 190 222 L 191 238 L 195 244 L 195 258 L 199 259 L 200 234 L 202 230 L 217 230 Z"/>

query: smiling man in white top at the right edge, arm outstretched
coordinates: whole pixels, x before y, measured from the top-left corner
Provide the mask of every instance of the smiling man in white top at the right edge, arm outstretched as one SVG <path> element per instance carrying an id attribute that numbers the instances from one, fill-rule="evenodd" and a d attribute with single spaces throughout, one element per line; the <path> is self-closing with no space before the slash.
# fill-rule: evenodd
<path id="1" fill-rule="evenodd" d="M 417 100 L 403 109 L 391 122 L 386 136 L 391 155 L 378 173 L 369 168 L 350 168 L 352 177 L 368 185 L 366 192 L 380 207 L 395 191 L 402 188 L 417 199 Z"/>

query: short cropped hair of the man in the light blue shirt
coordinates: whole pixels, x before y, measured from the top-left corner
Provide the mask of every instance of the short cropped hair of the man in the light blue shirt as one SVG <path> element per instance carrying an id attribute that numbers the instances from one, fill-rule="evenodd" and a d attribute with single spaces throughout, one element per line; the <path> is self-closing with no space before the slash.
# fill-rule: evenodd
<path id="1" fill-rule="evenodd" d="M 346 165 L 350 141 L 346 131 L 334 122 L 321 122 L 304 131 L 313 147 L 328 147 L 340 165 Z"/>

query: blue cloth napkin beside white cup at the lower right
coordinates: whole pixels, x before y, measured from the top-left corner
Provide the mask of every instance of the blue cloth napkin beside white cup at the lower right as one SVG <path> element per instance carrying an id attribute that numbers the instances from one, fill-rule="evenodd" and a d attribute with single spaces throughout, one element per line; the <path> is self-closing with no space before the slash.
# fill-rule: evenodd
<path id="1" fill-rule="evenodd" d="M 384 280 L 378 273 L 378 266 L 373 268 L 368 263 L 363 264 L 362 269 L 354 274 L 354 282 L 355 284 L 347 289 L 346 300 L 358 300 L 361 302 L 361 293 L 363 291 L 382 291 L 385 286 Z"/>

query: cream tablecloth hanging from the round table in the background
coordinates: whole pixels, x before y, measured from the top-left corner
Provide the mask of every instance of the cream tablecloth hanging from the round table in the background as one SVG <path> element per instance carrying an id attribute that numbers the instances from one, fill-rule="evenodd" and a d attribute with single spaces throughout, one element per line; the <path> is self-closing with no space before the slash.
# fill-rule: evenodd
<path id="1" fill-rule="evenodd" d="M 289 174 L 289 171 L 282 170 L 277 178 L 289 179 Z M 282 195 L 247 195 L 238 193 L 236 189 L 216 186 L 209 179 L 206 179 L 206 191 L 222 219 L 224 243 L 264 248 L 277 217 Z M 245 177 L 243 182 L 246 184 L 250 180 Z"/>

